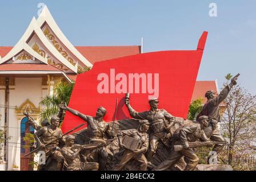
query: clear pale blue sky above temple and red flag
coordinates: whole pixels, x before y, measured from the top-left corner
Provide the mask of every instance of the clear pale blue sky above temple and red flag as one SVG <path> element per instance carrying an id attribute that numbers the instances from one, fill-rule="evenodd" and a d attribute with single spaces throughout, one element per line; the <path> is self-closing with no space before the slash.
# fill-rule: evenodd
<path id="1" fill-rule="evenodd" d="M 209 4 L 217 4 L 217 17 Z M 1 1 L 0 46 L 14 46 L 45 3 L 74 46 L 141 45 L 143 51 L 196 49 L 209 31 L 197 80 L 241 73 L 238 82 L 256 94 L 256 1 Z"/>

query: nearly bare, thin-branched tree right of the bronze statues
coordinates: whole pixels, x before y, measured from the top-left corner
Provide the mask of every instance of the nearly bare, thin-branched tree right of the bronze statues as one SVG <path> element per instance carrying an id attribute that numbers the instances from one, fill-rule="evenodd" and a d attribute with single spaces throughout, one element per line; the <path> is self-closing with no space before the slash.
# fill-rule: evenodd
<path id="1" fill-rule="evenodd" d="M 222 131 L 230 146 L 226 148 L 227 163 L 241 166 L 237 156 L 255 155 L 251 150 L 256 142 L 256 96 L 236 85 L 225 100 L 226 110 L 222 117 Z"/>

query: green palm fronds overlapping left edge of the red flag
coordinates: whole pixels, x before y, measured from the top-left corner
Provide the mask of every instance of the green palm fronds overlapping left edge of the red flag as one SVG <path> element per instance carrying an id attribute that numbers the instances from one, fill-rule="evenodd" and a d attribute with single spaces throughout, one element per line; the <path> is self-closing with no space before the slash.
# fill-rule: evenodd
<path id="1" fill-rule="evenodd" d="M 53 115 L 57 115 L 59 112 L 59 104 L 66 102 L 69 104 L 70 96 L 74 87 L 74 82 L 59 82 L 54 89 L 52 96 L 45 96 L 42 98 L 40 104 L 42 104 L 43 110 L 40 113 L 39 121 L 47 119 L 48 121 Z"/>

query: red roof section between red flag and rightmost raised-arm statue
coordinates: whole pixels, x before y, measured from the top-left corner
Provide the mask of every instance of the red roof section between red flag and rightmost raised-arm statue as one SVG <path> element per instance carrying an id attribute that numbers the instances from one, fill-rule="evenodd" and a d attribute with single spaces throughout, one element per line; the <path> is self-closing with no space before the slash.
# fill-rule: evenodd
<path id="1" fill-rule="evenodd" d="M 216 85 L 216 81 L 196 81 L 195 88 L 192 95 L 191 101 L 197 100 L 199 97 L 203 98 L 203 104 L 207 101 L 205 98 L 205 93 L 208 90 L 213 90 L 218 94 L 218 87 Z"/>

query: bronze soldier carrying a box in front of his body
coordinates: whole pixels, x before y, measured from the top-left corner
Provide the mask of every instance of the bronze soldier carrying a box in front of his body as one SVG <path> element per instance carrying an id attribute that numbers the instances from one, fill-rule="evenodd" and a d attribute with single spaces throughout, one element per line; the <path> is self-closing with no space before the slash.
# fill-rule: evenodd
<path id="1" fill-rule="evenodd" d="M 149 135 L 146 133 L 149 129 L 149 121 L 140 121 L 139 129 L 130 129 L 119 131 L 118 139 L 120 146 L 125 147 L 122 158 L 114 167 L 115 171 L 122 170 L 130 160 L 136 160 L 139 165 L 139 171 L 146 171 L 147 159 L 144 153 L 149 148 Z"/>

